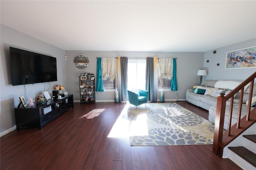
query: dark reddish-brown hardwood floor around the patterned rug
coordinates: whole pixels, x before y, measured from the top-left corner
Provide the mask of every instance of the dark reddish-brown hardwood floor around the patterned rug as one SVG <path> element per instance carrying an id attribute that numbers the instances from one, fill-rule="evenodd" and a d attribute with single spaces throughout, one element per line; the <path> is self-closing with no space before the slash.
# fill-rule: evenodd
<path id="1" fill-rule="evenodd" d="M 208 119 L 208 111 L 187 102 L 177 103 Z M 213 154 L 212 145 L 131 147 L 128 137 L 108 137 L 125 106 L 74 103 L 73 109 L 42 130 L 24 128 L 4 135 L 0 138 L 1 170 L 240 169 L 231 160 Z M 86 113 L 93 109 L 105 110 L 88 119 Z"/>

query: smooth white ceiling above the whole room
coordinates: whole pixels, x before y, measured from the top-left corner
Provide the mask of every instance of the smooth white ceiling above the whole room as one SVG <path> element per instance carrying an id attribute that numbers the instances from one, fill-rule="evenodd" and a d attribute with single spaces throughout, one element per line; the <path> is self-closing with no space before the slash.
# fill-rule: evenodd
<path id="1" fill-rule="evenodd" d="M 1 0 L 0 6 L 3 25 L 64 50 L 204 52 L 256 38 L 256 0 Z"/>

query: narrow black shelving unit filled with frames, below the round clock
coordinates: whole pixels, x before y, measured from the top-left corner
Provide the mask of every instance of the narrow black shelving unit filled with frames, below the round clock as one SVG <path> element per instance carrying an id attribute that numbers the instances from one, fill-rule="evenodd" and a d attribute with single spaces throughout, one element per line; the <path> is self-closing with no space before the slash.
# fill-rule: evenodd
<path id="1" fill-rule="evenodd" d="M 94 76 L 79 76 L 80 103 L 95 102 L 95 80 Z"/>

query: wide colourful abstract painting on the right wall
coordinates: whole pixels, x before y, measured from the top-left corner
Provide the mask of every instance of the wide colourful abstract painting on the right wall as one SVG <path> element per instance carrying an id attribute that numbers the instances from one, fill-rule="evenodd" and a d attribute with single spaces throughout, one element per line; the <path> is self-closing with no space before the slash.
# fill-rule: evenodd
<path id="1" fill-rule="evenodd" d="M 256 68 L 256 46 L 227 52 L 225 65 L 225 69 Z"/>

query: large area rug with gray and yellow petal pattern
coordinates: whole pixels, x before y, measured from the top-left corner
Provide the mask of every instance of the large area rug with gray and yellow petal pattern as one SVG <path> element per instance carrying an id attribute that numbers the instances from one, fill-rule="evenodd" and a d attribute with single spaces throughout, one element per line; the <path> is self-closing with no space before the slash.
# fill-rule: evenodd
<path id="1" fill-rule="evenodd" d="M 214 124 L 176 103 L 128 107 L 131 146 L 213 144 Z"/>

